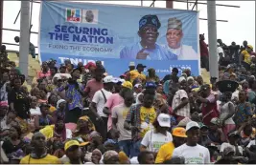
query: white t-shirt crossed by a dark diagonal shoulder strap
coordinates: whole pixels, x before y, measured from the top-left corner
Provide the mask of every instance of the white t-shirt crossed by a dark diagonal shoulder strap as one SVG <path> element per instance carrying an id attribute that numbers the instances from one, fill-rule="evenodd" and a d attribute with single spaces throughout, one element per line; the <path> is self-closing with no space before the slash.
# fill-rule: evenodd
<path id="1" fill-rule="evenodd" d="M 103 93 L 105 93 L 105 98 L 107 98 L 112 94 L 108 91 L 105 91 L 105 89 L 102 89 Z M 97 91 L 92 98 L 92 102 L 96 104 L 97 113 L 102 117 L 107 117 L 107 115 L 104 113 L 104 107 L 105 107 L 105 98 L 101 90 Z"/>

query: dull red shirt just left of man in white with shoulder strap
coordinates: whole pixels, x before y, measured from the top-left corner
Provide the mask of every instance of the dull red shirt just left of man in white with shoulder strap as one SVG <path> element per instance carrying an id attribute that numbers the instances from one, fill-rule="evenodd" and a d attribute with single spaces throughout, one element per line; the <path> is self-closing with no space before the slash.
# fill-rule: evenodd
<path id="1" fill-rule="evenodd" d="M 91 101 L 94 93 L 98 92 L 99 90 L 102 90 L 103 88 L 104 88 L 104 83 L 102 81 L 101 82 L 96 81 L 96 79 L 93 78 L 87 82 L 84 92 L 88 93 Z"/>

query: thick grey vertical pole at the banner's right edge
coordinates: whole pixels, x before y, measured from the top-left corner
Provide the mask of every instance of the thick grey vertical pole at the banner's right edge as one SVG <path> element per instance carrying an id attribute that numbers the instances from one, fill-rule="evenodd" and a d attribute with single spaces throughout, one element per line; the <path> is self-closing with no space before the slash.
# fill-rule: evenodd
<path id="1" fill-rule="evenodd" d="M 207 1 L 208 17 L 208 43 L 209 43 L 209 69 L 211 77 L 219 77 L 218 54 L 217 54 L 217 22 L 216 22 L 216 1 Z"/>

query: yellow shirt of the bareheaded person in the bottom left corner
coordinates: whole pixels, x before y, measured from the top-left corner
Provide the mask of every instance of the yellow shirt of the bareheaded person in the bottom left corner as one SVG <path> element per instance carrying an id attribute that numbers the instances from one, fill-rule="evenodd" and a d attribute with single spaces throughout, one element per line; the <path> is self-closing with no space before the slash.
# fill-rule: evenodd
<path id="1" fill-rule="evenodd" d="M 60 161 L 54 155 L 46 155 L 38 159 L 32 158 L 31 155 L 26 155 L 20 160 L 19 164 L 60 164 Z"/>

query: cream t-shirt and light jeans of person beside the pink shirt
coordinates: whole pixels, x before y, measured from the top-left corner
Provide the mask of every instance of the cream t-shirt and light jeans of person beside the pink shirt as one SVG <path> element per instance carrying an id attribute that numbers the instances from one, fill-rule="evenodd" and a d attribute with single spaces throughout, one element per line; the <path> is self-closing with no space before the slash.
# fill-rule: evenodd
<path id="1" fill-rule="evenodd" d="M 125 104 L 115 106 L 112 110 L 112 118 L 117 118 L 117 130 L 120 132 L 118 141 L 131 139 L 131 132 L 124 128 L 128 111 L 129 107 L 127 107 Z"/>

